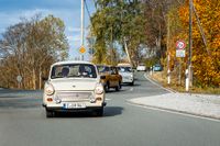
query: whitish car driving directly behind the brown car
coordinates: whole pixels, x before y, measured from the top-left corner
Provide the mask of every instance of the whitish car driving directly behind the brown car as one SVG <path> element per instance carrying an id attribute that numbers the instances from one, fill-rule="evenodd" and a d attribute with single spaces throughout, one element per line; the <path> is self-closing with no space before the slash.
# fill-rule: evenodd
<path id="1" fill-rule="evenodd" d="M 134 72 L 130 64 L 118 64 L 119 74 L 122 76 L 122 83 L 134 85 Z"/>

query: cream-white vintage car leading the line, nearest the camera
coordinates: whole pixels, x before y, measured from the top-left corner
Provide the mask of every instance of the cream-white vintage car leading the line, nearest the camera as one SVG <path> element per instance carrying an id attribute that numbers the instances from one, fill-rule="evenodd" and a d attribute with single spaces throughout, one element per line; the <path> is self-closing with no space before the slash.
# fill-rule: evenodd
<path id="1" fill-rule="evenodd" d="M 88 61 L 59 61 L 51 66 L 43 106 L 46 116 L 55 112 L 92 110 L 102 116 L 105 90 L 96 66 Z"/>

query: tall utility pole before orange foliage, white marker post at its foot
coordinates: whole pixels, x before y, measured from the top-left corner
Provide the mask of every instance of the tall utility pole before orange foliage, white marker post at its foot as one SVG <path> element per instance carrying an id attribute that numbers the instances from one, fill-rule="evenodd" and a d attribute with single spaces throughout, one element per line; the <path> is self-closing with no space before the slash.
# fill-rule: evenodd
<path id="1" fill-rule="evenodd" d="M 193 0 L 189 0 L 189 49 L 188 49 L 188 70 L 186 70 L 186 91 L 189 91 L 189 86 L 193 80 L 193 71 L 191 71 L 191 54 L 193 54 Z"/>

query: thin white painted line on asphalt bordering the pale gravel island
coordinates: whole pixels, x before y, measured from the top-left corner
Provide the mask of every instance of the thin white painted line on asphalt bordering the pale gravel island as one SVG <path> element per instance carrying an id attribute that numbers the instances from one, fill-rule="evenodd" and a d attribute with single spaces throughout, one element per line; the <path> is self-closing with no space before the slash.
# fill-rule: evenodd
<path id="1" fill-rule="evenodd" d="M 166 113 L 178 114 L 178 115 L 184 115 L 184 116 L 189 116 L 189 117 L 195 117 L 195 119 L 201 119 L 201 120 L 209 120 L 209 121 L 213 121 L 213 122 L 220 122 L 220 120 L 218 120 L 218 119 L 205 117 L 202 115 L 195 115 L 195 114 L 183 113 L 183 112 L 178 112 L 178 111 L 169 111 L 169 110 L 160 109 L 160 108 L 153 108 L 153 106 L 147 106 L 147 105 L 140 105 L 140 104 L 131 103 L 129 101 L 127 101 L 127 104 L 133 105 L 133 106 L 139 106 L 139 108 L 144 108 L 144 109 L 148 109 L 148 110 L 153 110 L 153 111 L 162 111 L 162 112 L 166 112 Z"/>

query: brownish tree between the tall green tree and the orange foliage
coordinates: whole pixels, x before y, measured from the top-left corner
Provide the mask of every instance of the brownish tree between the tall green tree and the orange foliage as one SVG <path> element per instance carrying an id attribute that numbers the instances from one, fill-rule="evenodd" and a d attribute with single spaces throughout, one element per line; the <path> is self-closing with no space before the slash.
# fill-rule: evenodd
<path id="1" fill-rule="evenodd" d="M 176 7 L 176 0 L 145 0 L 146 45 L 156 54 L 158 60 L 166 55 L 167 14 Z"/>

